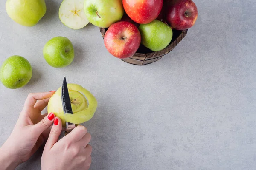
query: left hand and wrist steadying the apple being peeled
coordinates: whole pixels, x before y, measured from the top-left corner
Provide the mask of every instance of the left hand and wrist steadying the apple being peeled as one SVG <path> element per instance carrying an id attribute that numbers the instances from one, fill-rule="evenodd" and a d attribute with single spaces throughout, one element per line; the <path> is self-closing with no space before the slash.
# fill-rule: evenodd
<path id="1" fill-rule="evenodd" d="M 47 140 L 55 115 L 41 115 L 41 111 L 53 94 L 54 91 L 29 94 L 11 135 L 0 148 L 2 169 L 14 170 Z"/>

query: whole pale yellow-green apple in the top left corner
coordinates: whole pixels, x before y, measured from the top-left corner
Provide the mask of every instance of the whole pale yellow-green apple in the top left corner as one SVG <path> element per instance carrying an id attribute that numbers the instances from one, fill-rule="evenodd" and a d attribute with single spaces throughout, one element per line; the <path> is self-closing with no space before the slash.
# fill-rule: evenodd
<path id="1" fill-rule="evenodd" d="M 35 26 L 46 13 L 44 0 L 7 0 L 6 12 L 16 23 Z"/>

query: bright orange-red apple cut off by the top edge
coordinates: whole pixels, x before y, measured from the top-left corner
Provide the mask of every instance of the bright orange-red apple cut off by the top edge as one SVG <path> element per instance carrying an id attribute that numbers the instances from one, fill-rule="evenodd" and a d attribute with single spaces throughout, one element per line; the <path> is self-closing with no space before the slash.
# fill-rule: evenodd
<path id="1" fill-rule="evenodd" d="M 122 0 L 126 14 L 139 24 L 151 23 L 160 14 L 163 0 Z"/>

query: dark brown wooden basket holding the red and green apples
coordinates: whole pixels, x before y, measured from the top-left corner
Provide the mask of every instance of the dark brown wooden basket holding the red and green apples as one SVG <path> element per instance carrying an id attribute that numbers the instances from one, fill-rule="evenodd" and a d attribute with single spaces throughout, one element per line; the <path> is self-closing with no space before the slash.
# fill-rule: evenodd
<path id="1" fill-rule="evenodd" d="M 100 28 L 100 32 L 104 39 L 105 33 L 108 28 Z M 140 48 L 134 54 L 134 56 L 122 59 L 124 62 L 128 62 L 134 65 L 147 65 L 152 62 L 156 62 L 159 59 L 163 58 L 164 55 L 168 54 L 170 51 L 173 50 L 177 46 L 177 44 L 186 36 L 187 29 L 183 31 L 173 30 L 173 37 L 170 44 L 161 51 L 151 51 L 150 49 L 146 48 L 143 45 L 140 45 Z"/>

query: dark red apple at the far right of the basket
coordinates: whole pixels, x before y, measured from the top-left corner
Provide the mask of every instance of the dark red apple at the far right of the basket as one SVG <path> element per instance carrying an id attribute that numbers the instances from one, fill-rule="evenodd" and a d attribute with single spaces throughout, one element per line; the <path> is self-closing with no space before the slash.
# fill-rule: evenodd
<path id="1" fill-rule="evenodd" d="M 192 0 L 172 0 L 165 12 L 167 23 L 176 30 L 191 28 L 198 18 L 198 9 Z"/>

